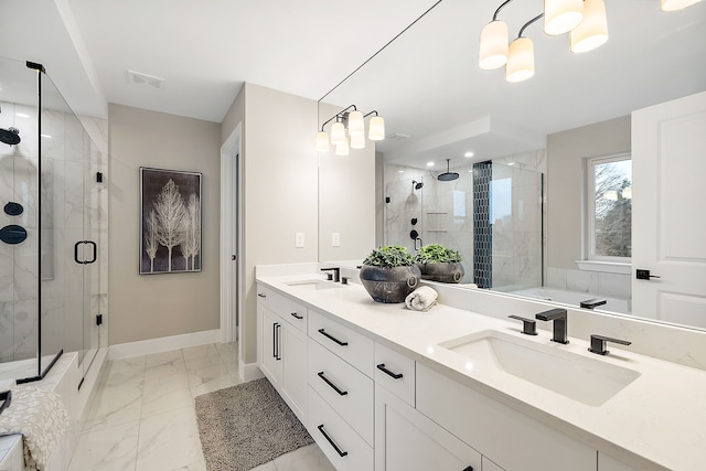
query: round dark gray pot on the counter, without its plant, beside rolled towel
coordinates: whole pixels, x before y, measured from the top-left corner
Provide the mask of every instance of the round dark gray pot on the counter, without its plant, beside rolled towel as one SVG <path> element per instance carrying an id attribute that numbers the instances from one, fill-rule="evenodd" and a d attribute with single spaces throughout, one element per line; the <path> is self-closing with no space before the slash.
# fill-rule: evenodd
<path id="1" fill-rule="evenodd" d="M 367 293 L 377 302 L 405 302 L 405 298 L 419 285 L 419 267 L 373 267 L 363 265 L 361 282 Z"/>

